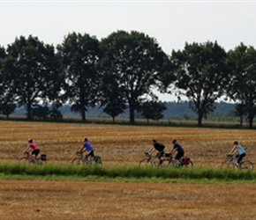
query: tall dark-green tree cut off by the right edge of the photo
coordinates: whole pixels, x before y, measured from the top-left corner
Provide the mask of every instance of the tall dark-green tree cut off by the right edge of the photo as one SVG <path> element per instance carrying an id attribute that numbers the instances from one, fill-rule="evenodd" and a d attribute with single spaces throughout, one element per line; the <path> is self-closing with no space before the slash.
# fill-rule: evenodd
<path id="1" fill-rule="evenodd" d="M 249 128 L 256 114 L 256 50 L 241 43 L 228 53 L 229 97 L 246 106 Z"/>

